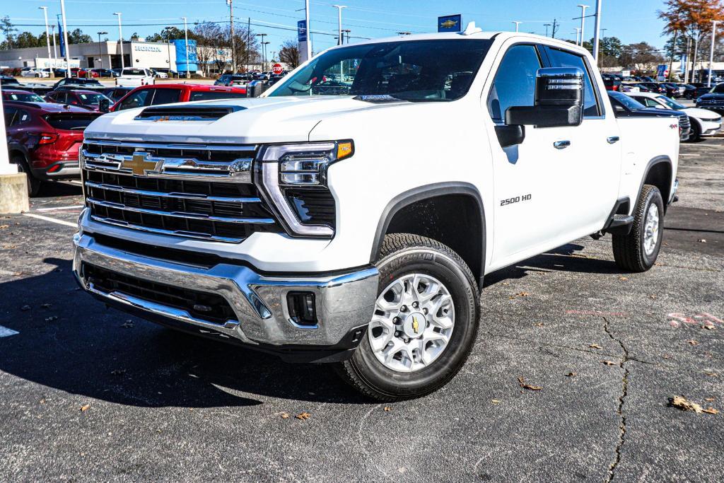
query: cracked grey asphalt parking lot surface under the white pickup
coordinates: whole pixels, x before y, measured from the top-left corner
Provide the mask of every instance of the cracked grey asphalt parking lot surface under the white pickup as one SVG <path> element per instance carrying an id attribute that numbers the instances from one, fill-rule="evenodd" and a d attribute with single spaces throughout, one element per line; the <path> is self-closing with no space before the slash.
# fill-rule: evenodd
<path id="1" fill-rule="evenodd" d="M 723 148 L 682 146 L 654 269 L 606 237 L 490 275 L 468 364 L 394 404 L 106 310 L 72 280 L 80 186 L 49 186 L 0 217 L 0 480 L 721 481 Z"/>

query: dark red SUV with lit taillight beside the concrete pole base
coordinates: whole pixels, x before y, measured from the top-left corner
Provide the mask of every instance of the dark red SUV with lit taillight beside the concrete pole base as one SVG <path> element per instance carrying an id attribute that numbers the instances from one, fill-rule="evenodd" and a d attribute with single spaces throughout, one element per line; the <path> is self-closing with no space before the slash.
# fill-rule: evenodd
<path id="1" fill-rule="evenodd" d="M 99 112 L 52 103 L 4 103 L 10 162 L 28 175 L 35 196 L 43 180 L 80 178 L 78 148 L 83 131 Z"/>

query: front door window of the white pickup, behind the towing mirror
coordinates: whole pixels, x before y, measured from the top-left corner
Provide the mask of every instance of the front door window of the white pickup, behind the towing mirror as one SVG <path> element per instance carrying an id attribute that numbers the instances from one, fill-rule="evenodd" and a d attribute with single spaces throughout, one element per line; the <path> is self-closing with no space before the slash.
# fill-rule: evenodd
<path id="1" fill-rule="evenodd" d="M 488 96 L 488 111 L 494 122 L 505 122 L 510 106 L 533 106 L 536 74 L 541 61 L 534 46 L 513 46 L 500 62 Z"/>

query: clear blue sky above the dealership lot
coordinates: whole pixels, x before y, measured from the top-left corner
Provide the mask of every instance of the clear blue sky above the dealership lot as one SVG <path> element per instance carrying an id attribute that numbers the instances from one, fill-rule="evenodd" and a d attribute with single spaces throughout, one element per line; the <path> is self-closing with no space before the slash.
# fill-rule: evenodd
<path id="1" fill-rule="evenodd" d="M 602 0 L 602 28 L 604 35 L 615 35 L 624 43 L 647 41 L 662 46 L 660 36 L 662 22 L 656 12 L 662 8 L 662 0 Z M 311 26 L 313 30 L 336 35 L 337 9 L 332 4 L 344 4 L 342 21 L 351 35 L 377 38 L 395 35 L 398 31 L 431 32 L 436 30 L 436 19 L 443 14 L 463 14 L 463 23 L 474 20 L 484 30 L 513 30 L 513 20 L 519 20 L 521 31 L 544 34 L 546 23 L 555 18 L 560 22 L 556 35 L 559 38 L 575 38 L 575 28 L 580 20 L 581 9 L 577 4 L 589 4 L 593 12 L 595 0 L 311 0 Z M 60 12 L 59 0 L 3 0 L 0 14 L 7 14 L 20 31 L 40 33 L 44 30 L 41 6 L 49 7 L 51 22 Z M 282 41 L 295 38 L 293 28 L 303 18 L 303 0 L 251 0 L 234 1 L 234 15 L 246 21 L 251 17 L 256 33 L 268 33 L 269 51 L 278 50 Z M 225 0 L 65 0 L 68 28 L 81 28 L 96 38 L 96 32 L 106 30 L 109 38 L 117 38 L 117 20 L 113 12 L 122 12 L 123 35 L 132 33 L 149 35 L 165 25 L 180 25 L 180 17 L 188 17 L 190 24 L 196 21 L 229 20 L 229 8 Z M 588 14 L 587 12 L 587 14 Z M 29 24 L 28 26 L 22 24 Z M 158 25 L 148 25 L 158 24 Z M 586 19 L 586 38 L 593 33 L 593 19 Z M 313 35 L 314 50 L 320 51 L 334 45 L 333 35 Z M 353 39 L 354 41 L 354 39 Z"/>

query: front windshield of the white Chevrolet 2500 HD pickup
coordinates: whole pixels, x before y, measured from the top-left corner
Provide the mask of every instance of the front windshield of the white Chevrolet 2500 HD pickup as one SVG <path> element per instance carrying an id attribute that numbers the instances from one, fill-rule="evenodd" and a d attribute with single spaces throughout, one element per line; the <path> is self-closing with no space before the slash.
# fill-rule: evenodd
<path id="1" fill-rule="evenodd" d="M 286 77 L 269 96 L 389 96 L 453 101 L 464 96 L 492 41 L 367 43 L 332 49 Z"/>

